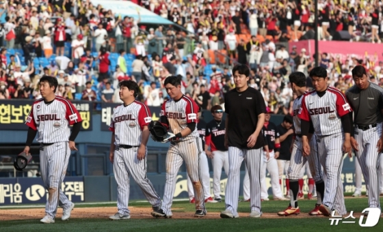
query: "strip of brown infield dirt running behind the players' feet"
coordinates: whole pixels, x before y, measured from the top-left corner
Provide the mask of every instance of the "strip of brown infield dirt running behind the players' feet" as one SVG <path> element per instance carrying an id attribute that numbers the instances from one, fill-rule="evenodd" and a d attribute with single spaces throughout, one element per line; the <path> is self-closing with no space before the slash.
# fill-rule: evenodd
<path id="1" fill-rule="evenodd" d="M 149 219 L 153 218 L 150 215 L 151 209 L 148 207 L 129 207 L 131 210 L 131 218 L 134 219 Z M 177 209 L 173 209 L 173 219 L 192 219 L 194 218 L 194 212 L 176 212 Z M 104 218 L 108 219 L 109 216 L 116 214 L 116 207 L 78 207 L 73 209 L 70 218 Z M 250 213 L 250 212 L 249 212 Z M 249 213 L 239 213 L 240 217 L 248 217 Z M 61 218 L 62 209 L 58 209 L 57 218 Z M 0 221 L 1 220 L 32 220 L 41 219 L 44 217 L 44 209 L 0 209 Z M 309 218 L 308 214 L 301 213 L 298 216 L 281 217 L 276 213 L 264 213 L 262 218 Z M 360 213 L 354 212 L 354 217 L 360 218 Z M 220 218 L 218 212 L 208 212 L 205 219 Z M 155 219 L 155 218 L 153 218 Z"/>

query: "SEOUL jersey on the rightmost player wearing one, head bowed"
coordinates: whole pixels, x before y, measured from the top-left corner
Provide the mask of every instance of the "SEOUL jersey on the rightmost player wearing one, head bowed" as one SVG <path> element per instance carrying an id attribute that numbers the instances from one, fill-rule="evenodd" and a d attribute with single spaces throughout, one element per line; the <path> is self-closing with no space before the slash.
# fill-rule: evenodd
<path id="1" fill-rule="evenodd" d="M 315 134 L 325 136 L 343 132 L 341 117 L 352 112 L 345 95 L 338 89 L 328 87 L 319 97 L 317 91 L 304 94 L 298 117 L 313 121 Z"/>

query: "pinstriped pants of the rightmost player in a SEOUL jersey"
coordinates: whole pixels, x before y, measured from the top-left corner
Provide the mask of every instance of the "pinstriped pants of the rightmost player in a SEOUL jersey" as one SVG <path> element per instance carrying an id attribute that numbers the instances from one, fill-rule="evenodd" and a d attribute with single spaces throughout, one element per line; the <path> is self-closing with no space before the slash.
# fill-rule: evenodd
<path id="1" fill-rule="evenodd" d="M 327 205 L 330 210 L 336 209 L 340 215 L 347 214 L 341 179 L 344 140 L 343 133 L 317 136 L 319 162 L 326 174 L 322 203 Z"/>

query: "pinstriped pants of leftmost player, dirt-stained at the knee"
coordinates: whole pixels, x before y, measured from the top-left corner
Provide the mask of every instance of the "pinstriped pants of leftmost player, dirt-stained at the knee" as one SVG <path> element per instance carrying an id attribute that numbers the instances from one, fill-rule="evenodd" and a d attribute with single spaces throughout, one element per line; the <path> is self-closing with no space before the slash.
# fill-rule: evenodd
<path id="1" fill-rule="evenodd" d="M 70 157 L 68 142 L 40 145 L 40 171 L 42 182 L 48 190 L 48 200 L 45 205 L 45 214 L 55 218 L 57 206 L 68 207 L 70 201 L 61 190 Z M 51 189 L 51 191 L 49 191 Z"/>

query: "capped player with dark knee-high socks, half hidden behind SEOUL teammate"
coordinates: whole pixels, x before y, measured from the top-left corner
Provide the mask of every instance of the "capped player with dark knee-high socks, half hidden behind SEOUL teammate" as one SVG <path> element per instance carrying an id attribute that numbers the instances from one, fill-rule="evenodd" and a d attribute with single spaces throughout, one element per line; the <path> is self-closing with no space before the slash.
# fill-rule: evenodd
<path id="1" fill-rule="evenodd" d="M 306 92 L 306 75 L 302 72 L 293 72 L 289 76 L 289 81 L 293 93 L 296 93 L 298 96 L 293 102 L 293 128 L 295 138 L 293 139 L 293 143 L 291 143 L 291 158 L 287 173 L 290 187 L 290 204 L 287 209 L 278 212 L 278 215 L 289 216 L 291 214 L 300 214 L 300 208 L 298 206 L 298 192 L 300 186 L 298 180 L 303 176 L 304 173 L 302 173 L 302 171 L 304 171 L 306 162 L 308 162 L 309 166 L 311 166 L 310 170 L 317 186 L 317 204 L 315 204 L 315 208 L 308 214 L 311 216 L 319 216 L 322 215 L 319 211 L 319 206 L 323 199 L 324 182 L 317 154 L 317 139 L 316 136 L 311 135 L 313 138 L 311 139 L 311 154 L 309 156 L 304 156 L 302 151 L 302 119 L 298 117 L 298 113 L 302 111 L 304 93 L 308 94 Z M 312 134 L 313 130 L 310 132 Z"/>

